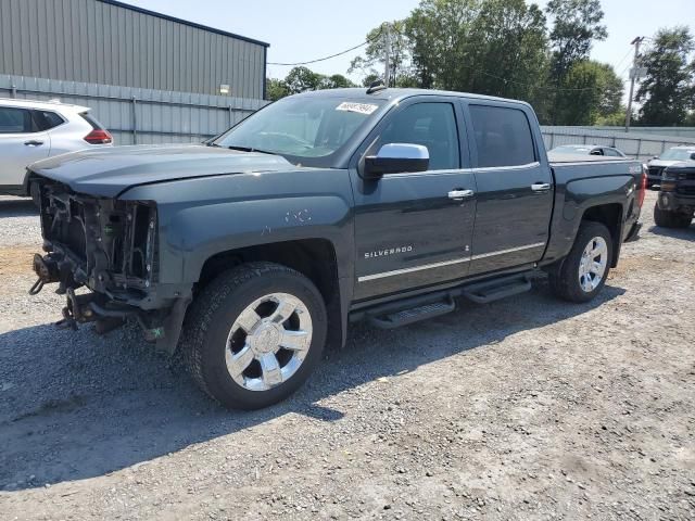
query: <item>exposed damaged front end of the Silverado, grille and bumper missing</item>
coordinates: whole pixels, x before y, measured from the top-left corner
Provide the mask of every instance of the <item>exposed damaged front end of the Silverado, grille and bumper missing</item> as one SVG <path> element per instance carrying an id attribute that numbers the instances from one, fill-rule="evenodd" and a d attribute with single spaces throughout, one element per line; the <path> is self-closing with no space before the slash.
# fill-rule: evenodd
<path id="1" fill-rule="evenodd" d="M 173 352 L 186 306 L 163 301 L 155 291 L 156 205 L 79 194 L 48 179 L 35 181 L 31 195 L 40 207 L 47 254 L 35 255 L 38 280 L 29 293 L 59 284 L 56 293 L 67 303 L 58 326 L 96 322 L 104 333 L 134 318 L 148 341 L 164 343 L 168 332 L 174 345 L 162 347 Z M 77 292 L 80 288 L 91 291 Z"/>

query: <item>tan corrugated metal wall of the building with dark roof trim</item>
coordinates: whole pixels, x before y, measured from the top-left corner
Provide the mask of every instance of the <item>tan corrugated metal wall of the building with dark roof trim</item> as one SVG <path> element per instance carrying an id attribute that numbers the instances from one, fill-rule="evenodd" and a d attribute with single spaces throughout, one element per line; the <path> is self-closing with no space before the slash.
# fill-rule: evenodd
<path id="1" fill-rule="evenodd" d="M 0 74 L 261 99 L 263 46 L 98 0 L 0 0 Z"/>

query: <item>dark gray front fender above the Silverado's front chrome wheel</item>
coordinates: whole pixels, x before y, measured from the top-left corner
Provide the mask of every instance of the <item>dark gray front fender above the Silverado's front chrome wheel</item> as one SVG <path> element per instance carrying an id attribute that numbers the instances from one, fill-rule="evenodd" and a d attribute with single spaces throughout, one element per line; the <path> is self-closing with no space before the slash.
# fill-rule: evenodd
<path id="1" fill-rule="evenodd" d="M 346 170 L 232 174 L 132 188 L 122 199 L 154 201 L 159 281 L 193 283 L 215 254 L 302 239 L 336 250 L 339 278 L 353 276 L 352 189 Z"/>

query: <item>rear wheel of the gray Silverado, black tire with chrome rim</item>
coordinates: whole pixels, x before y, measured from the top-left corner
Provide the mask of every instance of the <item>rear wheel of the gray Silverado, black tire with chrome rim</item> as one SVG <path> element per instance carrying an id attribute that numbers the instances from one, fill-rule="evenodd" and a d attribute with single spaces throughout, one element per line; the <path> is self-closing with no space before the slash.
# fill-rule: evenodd
<path id="1" fill-rule="evenodd" d="M 589 302 L 606 284 L 612 262 L 610 231 L 601 223 L 583 221 L 560 267 L 549 274 L 553 292 L 569 302 Z"/>

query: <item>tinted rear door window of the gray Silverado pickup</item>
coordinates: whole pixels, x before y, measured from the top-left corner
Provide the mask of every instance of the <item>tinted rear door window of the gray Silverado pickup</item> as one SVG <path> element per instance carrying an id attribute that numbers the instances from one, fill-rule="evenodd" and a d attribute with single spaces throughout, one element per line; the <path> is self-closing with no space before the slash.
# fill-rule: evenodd
<path id="1" fill-rule="evenodd" d="M 479 168 L 522 166 L 536 161 L 531 125 L 523 111 L 470 105 L 470 116 Z"/>

